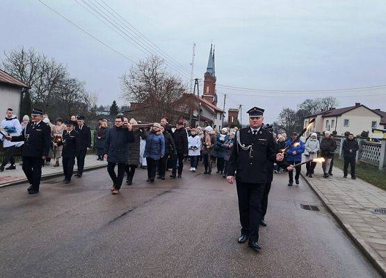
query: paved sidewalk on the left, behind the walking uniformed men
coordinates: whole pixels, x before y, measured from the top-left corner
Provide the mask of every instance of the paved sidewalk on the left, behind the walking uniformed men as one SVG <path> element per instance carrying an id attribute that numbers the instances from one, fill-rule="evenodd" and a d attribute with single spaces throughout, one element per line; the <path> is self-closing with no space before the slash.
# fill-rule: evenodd
<path id="1" fill-rule="evenodd" d="M 53 176 L 55 174 L 63 173 L 63 167 L 60 160 L 60 167 L 54 167 L 55 161 L 51 160 L 50 165 L 45 165 L 42 167 L 42 177 Z M 107 165 L 106 161 L 97 161 L 97 156 L 90 154 L 86 156 L 85 159 L 85 170 L 91 170 L 98 167 L 104 167 Z M 9 164 L 7 165 L 7 167 Z M 77 170 L 77 162 L 75 161 L 74 171 Z M 16 164 L 16 170 L 4 170 L 0 172 L 0 187 L 9 186 L 13 183 L 19 183 L 26 181 L 26 176 L 22 170 L 22 165 L 19 163 Z"/>

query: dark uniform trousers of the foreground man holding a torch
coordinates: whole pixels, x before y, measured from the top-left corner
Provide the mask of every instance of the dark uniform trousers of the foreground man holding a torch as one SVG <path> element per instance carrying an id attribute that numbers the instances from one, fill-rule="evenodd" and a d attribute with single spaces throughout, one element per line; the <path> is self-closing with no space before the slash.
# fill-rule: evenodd
<path id="1" fill-rule="evenodd" d="M 265 183 L 243 183 L 236 180 L 241 234 L 250 240 L 259 240 L 259 224 L 262 220 L 262 199 Z"/>

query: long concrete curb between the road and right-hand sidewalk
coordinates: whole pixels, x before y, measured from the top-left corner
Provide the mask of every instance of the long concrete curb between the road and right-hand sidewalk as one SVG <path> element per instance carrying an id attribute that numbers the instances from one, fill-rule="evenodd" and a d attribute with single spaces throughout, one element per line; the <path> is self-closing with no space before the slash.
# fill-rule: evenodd
<path id="1" fill-rule="evenodd" d="M 344 221 L 344 218 L 342 217 L 341 213 L 339 213 L 333 206 L 328 204 L 328 200 L 325 199 L 325 197 L 320 192 L 320 190 L 316 188 L 316 186 L 314 186 L 312 183 L 310 183 L 308 179 L 304 177 L 304 174 L 302 172 L 300 172 L 300 175 L 307 182 L 309 187 L 312 188 L 312 190 L 314 190 L 314 193 L 316 193 L 319 199 L 321 199 L 321 202 L 323 203 L 325 208 L 327 208 L 327 210 L 331 213 L 331 215 L 335 218 L 335 220 L 337 220 L 337 222 L 344 230 L 344 232 L 348 235 L 349 238 L 351 238 L 351 240 L 353 240 L 355 245 L 357 245 L 357 247 L 360 249 L 360 251 L 362 251 L 364 256 L 367 257 L 367 259 L 370 261 L 373 267 L 376 268 L 376 270 L 378 270 L 379 274 L 382 277 L 386 278 L 385 261 L 376 253 L 375 250 L 373 250 L 373 248 L 370 245 L 366 243 L 366 241 L 362 238 L 362 236 L 360 236 L 360 234 L 358 234 L 357 231 L 355 231 L 355 229 L 351 227 L 351 224 L 348 224 Z"/>

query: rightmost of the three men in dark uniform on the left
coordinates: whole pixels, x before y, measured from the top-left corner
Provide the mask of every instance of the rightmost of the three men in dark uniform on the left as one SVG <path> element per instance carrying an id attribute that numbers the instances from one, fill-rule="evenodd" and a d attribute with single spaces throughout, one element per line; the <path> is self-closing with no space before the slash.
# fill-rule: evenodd
<path id="1" fill-rule="evenodd" d="M 75 176 L 80 178 L 83 174 L 84 158 L 86 158 L 87 151 L 91 147 L 91 129 L 84 124 L 83 116 L 78 116 L 77 122 L 78 125 L 74 129 L 79 133 L 80 149 L 77 154 L 78 173 Z"/>

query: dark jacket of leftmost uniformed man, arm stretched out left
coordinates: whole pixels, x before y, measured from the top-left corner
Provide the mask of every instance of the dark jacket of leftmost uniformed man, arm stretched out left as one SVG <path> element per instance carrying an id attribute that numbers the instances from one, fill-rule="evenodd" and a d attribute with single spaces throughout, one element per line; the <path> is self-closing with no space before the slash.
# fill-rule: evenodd
<path id="1" fill-rule="evenodd" d="M 13 136 L 12 142 L 24 141 L 22 156 L 48 156 L 51 146 L 51 129 L 43 121 L 29 122 L 20 136 Z"/>

